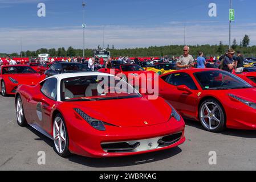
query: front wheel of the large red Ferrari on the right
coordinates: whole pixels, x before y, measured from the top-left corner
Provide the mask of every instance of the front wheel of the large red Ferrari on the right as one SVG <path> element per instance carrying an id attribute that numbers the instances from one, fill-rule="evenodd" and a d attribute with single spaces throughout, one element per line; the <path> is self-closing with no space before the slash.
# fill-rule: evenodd
<path id="1" fill-rule="evenodd" d="M 205 130 L 218 133 L 226 129 L 225 110 L 217 100 L 208 99 L 202 102 L 198 114 Z"/>

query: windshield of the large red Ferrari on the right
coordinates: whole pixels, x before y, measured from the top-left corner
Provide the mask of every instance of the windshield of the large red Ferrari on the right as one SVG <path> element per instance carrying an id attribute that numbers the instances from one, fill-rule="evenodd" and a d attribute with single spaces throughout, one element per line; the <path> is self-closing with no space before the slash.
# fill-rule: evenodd
<path id="1" fill-rule="evenodd" d="M 197 81 L 204 90 L 226 90 L 251 88 L 246 81 L 225 71 L 205 71 L 194 73 Z"/>

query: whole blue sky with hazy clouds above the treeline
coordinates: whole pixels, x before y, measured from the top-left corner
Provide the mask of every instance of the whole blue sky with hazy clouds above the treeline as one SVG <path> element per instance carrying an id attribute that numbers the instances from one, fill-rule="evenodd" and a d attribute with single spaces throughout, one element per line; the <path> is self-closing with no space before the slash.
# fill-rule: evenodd
<path id="1" fill-rule="evenodd" d="M 38 3 L 46 17 L 37 16 Z M 83 8 L 80 0 L 0 0 L 0 52 L 83 46 Z M 227 44 L 229 0 L 87 0 L 86 48 L 116 48 L 184 44 Z M 216 3 L 217 17 L 208 15 Z M 233 0 L 232 39 L 250 35 L 256 44 L 255 0 Z M 104 31 L 103 31 L 104 30 Z"/>

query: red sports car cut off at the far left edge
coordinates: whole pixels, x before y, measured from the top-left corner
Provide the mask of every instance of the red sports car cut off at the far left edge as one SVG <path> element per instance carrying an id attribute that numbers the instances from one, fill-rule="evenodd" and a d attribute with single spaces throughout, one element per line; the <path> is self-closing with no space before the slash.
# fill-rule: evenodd
<path id="1" fill-rule="evenodd" d="M 5 65 L 0 67 L 2 96 L 14 95 L 18 85 L 36 85 L 45 78 L 26 65 Z"/>

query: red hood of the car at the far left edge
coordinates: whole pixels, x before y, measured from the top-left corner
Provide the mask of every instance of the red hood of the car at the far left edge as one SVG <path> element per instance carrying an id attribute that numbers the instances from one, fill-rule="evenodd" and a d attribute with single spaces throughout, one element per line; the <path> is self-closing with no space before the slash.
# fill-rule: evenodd
<path id="1" fill-rule="evenodd" d="M 43 80 L 40 74 L 13 74 L 8 77 L 14 78 L 19 82 L 19 85 L 36 85 L 39 81 Z"/>

